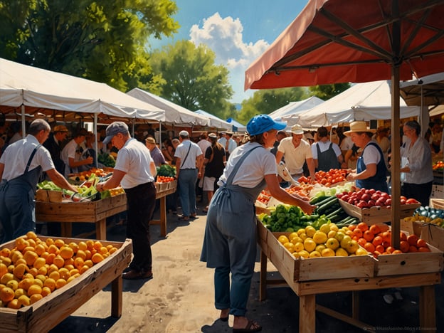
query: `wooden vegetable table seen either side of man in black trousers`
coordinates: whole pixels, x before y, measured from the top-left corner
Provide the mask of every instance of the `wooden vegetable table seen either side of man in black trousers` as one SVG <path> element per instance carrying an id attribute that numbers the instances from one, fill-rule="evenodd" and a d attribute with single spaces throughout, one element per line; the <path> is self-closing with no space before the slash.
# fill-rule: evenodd
<path id="1" fill-rule="evenodd" d="M 160 199 L 160 218 L 150 224 L 160 224 L 160 235 L 166 236 L 166 196 L 176 191 L 177 181 L 156 184 L 156 199 Z M 72 223 L 95 223 L 96 238 L 106 239 L 106 218 L 127 210 L 125 193 L 89 202 L 44 202 L 36 201 L 36 219 L 43 222 L 60 222 L 61 236 L 71 237 Z"/>

